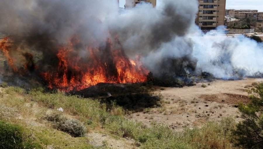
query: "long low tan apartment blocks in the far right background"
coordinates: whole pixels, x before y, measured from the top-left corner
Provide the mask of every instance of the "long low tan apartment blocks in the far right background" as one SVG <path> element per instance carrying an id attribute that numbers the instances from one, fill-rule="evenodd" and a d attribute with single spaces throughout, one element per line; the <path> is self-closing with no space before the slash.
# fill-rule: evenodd
<path id="1" fill-rule="evenodd" d="M 225 15 L 232 16 L 238 19 L 245 19 L 245 18 L 255 18 L 258 21 L 263 20 L 263 12 L 258 12 L 258 10 L 250 10 L 250 9 L 226 9 Z"/>

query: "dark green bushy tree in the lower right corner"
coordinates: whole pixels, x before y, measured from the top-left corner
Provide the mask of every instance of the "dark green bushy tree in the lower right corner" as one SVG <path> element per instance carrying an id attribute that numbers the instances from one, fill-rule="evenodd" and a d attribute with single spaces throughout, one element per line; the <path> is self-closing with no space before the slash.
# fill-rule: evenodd
<path id="1" fill-rule="evenodd" d="M 262 148 L 263 146 L 263 83 L 250 92 L 250 103 L 239 104 L 241 117 L 244 119 L 237 124 L 233 134 L 236 145 L 244 148 Z"/>

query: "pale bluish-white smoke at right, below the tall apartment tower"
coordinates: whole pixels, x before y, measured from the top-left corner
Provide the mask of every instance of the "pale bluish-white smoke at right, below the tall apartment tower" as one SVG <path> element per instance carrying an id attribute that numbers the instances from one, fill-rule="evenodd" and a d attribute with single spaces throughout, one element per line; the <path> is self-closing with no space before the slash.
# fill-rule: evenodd
<path id="1" fill-rule="evenodd" d="M 190 36 L 190 35 L 189 35 Z M 227 37 L 224 35 L 191 36 L 193 55 L 198 59 L 198 67 L 217 78 L 244 76 L 263 72 L 263 44 L 243 35 Z"/>

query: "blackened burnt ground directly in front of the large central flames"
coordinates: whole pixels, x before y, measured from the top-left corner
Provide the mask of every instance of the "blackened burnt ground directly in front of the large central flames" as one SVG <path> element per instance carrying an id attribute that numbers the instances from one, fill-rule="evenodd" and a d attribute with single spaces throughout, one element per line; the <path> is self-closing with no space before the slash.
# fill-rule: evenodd
<path id="1" fill-rule="evenodd" d="M 81 91 L 72 91 L 70 94 L 99 99 L 109 106 L 112 101 L 116 101 L 127 110 L 140 112 L 145 108 L 160 107 L 160 94 L 154 91 L 154 87 L 147 83 L 100 83 Z"/>

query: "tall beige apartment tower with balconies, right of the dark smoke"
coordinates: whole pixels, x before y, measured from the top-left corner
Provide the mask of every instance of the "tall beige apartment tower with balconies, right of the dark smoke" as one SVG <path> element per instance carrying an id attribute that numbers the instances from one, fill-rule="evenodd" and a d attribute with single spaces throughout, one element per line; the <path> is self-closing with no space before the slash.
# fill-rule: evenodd
<path id="1" fill-rule="evenodd" d="M 199 12 L 195 24 L 202 30 L 213 30 L 224 25 L 226 0 L 198 0 Z"/>

